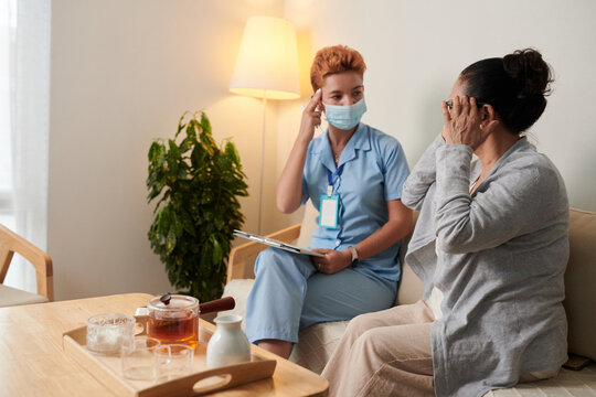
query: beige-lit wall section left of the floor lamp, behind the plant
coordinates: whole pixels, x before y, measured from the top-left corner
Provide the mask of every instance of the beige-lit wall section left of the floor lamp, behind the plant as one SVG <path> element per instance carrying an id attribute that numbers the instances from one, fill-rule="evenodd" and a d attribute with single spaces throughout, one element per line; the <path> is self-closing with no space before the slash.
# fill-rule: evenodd
<path id="1" fill-rule="evenodd" d="M 262 104 L 227 87 L 246 19 L 279 14 L 280 4 L 52 2 L 47 250 L 56 299 L 171 290 L 147 239 L 147 151 L 173 137 L 185 110 L 205 109 L 216 140 L 237 144 L 252 193 L 242 200 L 246 228 L 256 232 Z"/>

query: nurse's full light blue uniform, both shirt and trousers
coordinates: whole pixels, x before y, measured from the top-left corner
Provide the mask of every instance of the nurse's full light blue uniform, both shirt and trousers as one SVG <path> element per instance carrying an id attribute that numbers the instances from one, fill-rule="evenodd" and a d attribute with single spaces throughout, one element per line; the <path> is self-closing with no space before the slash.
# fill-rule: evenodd
<path id="1" fill-rule="evenodd" d="M 402 197 L 409 170 L 400 142 L 360 124 L 333 160 L 328 131 L 309 144 L 302 174 L 305 204 L 320 208 L 327 194 L 328 171 L 343 167 L 333 183 L 339 195 L 338 227 L 318 227 L 311 248 L 344 250 L 364 240 L 389 221 L 387 201 Z M 350 320 L 392 307 L 401 276 L 395 244 L 355 267 L 334 275 L 318 272 L 309 256 L 276 248 L 262 251 L 255 262 L 255 283 L 246 304 L 246 335 L 251 342 L 276 339 L 298 342 L 298 330 Z"/>

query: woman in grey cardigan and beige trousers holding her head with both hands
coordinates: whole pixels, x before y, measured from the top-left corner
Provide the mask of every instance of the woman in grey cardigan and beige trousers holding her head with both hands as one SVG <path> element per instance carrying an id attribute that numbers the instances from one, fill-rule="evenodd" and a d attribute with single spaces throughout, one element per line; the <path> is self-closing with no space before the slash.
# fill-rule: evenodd
<path id="1" fill-rule="evenodd" d="M 534 50 L 461 72 L 402 196 L 421 210 L 406 260 L 424 300 L 350 323 L 322 374 L 331 396 L 482 396 L 565 362 L 567 197 L 522 135 L 550 83 Z"/>

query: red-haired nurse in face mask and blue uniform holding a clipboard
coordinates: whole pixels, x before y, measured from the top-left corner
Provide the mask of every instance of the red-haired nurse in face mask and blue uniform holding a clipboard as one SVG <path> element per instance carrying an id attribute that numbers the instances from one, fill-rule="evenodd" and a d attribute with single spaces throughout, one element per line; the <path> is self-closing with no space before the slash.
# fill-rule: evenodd
<path id="1" fill-rule="evenodd" d="M 412 228 L 401 201 L 409 171 L 395 138 L 360 122 L 365 69 L 344 45 L 316 54 L 315 94 L 277 185 L 279 211 L 290 214 L 309 198 L 319 210 L 310 248 L 324 257 L 268 248 L 255 264 L 246 335 L 285 358 L 300 329 L 387 309 L 397 293 L 397 242 Z M 313 138 L 321 114 L 329 128 Z"/>

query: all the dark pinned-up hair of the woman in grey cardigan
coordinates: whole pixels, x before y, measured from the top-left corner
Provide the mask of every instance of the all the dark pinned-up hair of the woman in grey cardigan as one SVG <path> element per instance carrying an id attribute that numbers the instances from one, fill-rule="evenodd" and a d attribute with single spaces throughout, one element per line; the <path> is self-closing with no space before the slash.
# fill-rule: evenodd
<path id="1" fill-rule="evenodd" d="M 551 67 L 536 50 L 519 50 L 502 58 L 478 61 L 461 72 L 467 95 L 491 105 L 515 133 L 530 128 L 546 108 Z"/>

